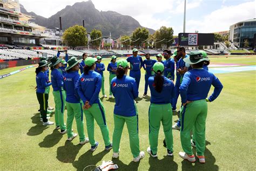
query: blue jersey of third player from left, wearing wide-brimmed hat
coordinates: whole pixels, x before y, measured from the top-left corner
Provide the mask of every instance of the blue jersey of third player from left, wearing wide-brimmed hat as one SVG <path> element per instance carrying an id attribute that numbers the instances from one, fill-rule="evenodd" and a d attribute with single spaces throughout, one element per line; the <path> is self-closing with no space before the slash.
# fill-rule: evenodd
<path id="1" fill-rule="evenodd" d="M 77 92 L 79 74 L 76 71 L 66 73 L 64 77 L 64 85 L 66 89 L 66 102 L 79 103 L 80 97 Z"/>

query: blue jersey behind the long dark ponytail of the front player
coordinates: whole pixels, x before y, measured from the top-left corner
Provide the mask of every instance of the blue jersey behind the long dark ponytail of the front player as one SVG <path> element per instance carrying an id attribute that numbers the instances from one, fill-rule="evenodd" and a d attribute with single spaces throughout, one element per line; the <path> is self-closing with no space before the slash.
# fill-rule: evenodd
<path id="1" fill-rule="evenodd" d="M 151 92 L 150 102 L 154 104 L 168 104 L 171 103 L 174 97 L 174 84 L 170 79 L 164 76 L 164 85 L 161 92 L 157 92 L 154 84 L 154 77 L 149 77 L 149 87 Z"/>

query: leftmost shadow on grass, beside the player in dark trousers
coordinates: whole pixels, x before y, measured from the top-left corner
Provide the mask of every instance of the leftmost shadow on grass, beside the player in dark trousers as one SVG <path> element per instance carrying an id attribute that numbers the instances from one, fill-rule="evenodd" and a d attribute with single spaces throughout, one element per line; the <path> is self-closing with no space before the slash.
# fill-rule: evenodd
<path id="1" fill-rule="evenodd" d="M 40 113 L 35 113 L 31 117 L 32 123 L 36 124 L 29 129 L 29 132 L 26 133 L 28 136 L 37 136 L 43 133 L 44 130 L 48 129 L 49 126 L 44 126 L 40 121 Z"/>

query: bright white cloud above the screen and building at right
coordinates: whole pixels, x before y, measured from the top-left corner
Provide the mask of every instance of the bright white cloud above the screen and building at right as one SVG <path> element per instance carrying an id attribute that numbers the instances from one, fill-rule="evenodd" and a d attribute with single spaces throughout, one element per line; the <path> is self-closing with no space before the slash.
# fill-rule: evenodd
<path id="1" fill-rule="evenodd" d="M 186 23 L 186 32 L 199 31 L 210 33 L 229 30 L 230 26 L 255 17 L 255 2 L 246 2 L 239 5 L 223 6 L 223 8 L 206 15 L 203 20 L 189 20 Z"/>

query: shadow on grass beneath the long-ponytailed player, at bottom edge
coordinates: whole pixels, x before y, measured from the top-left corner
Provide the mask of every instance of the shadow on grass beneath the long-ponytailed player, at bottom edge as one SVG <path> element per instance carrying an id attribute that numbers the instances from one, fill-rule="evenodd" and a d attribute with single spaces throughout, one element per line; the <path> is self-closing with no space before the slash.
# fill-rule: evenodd
<path id="1" fill-rule="evenodd" d="M 163 159 L 149 158 L 149 170 L 178 170 L 178 164 L 173 161 L 174 156 L 164 156 Z"/>

